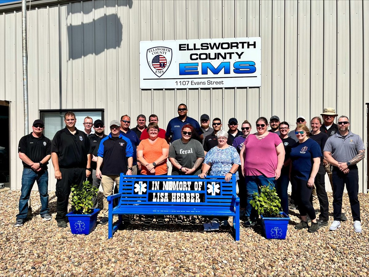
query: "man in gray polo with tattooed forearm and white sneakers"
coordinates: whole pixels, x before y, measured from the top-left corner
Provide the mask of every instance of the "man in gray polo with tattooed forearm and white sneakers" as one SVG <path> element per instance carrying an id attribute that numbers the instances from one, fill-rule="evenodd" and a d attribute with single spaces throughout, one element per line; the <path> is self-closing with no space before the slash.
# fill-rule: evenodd
<path id="1" fill-rule="evenodd" d="M 365 146 L 360 136 L 349 131 L 348 117 L 342 115 L 338 118 L 338 132 L 328 138 L 324 146 L 324 159 L 333 166 L 333 215 L 334 221 L 330 231 L 341 227 L 342 195 L 345 184 L 354 219 L 355 232 L 361 233 L 359 174 L 356 163 L 365 157 Z"/>

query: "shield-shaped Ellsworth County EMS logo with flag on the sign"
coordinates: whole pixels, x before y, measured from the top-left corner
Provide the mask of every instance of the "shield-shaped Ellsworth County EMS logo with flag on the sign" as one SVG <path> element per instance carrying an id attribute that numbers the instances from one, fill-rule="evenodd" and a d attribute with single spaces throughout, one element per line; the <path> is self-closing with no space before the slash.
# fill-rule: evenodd
<path id="1" fill-rule="evenodd" d="M 172 52 L 172 49 L 164 46 L 147 49 L 147 63 L 156 76 L 161 77 L 168 70 L 172 61 Z"/>

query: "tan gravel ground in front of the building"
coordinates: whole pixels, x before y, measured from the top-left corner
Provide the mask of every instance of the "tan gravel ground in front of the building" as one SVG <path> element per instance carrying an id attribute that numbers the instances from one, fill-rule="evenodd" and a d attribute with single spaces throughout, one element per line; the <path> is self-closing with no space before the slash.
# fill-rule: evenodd
<path id="1" fill-rule="evenodd" d="M 362 233 L 354 232 L 345 194 L 348 221 L 337 231 L 297 231 L 300 220 L 292 211 L 285 240 L 267 240 L 260 226 L 241 222 L 238 242 L 230 227 L 204 232 L 203 218 L 197 225 L 147 227 L 136 217 L 113 239 L 107 225 L 88 236 L 73 235 L 69 224 L 59 229 L 55 220 L 41 219 L 37 191 L 31 194 L 32 219 L 15 228 L 19 196 L 0 193 L 0 276 L 369 276 L 369 194 L 359 194 Z M 54 192 L 49 206 L 54 219 Z"/>

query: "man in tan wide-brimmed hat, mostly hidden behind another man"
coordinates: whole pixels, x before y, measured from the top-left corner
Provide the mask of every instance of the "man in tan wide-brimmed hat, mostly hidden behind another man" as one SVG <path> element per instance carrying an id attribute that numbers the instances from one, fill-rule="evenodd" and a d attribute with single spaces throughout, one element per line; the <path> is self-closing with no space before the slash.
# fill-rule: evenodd
<path id="1" fill-rule="evenodd" d="M 320 114 L 323 118 L 323 125 L 320 127 L 320 131 L 327 134 L 328 138 L 335 135 L 338 132 L 338 126 L 334 123 L 335 117 L 338 116 L 334 108 L 324 108 L 324 111 Z M 331 183 L 331 188 L 333 190 L 332 182 L 332 166 L 324 159 L 323 160 L 325 171 L 328 174 L 329 182 Z M 342 208 L 341 220 L 346 221 L 345 210 Z"/>

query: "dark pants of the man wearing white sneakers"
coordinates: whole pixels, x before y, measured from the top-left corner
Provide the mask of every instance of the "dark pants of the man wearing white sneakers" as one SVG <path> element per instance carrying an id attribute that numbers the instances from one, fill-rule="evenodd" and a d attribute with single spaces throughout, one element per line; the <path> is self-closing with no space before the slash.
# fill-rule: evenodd
<path id="1" fill-rule="evenodd" d="M 346 184 L 348 198 L 350 200 L 352 218 L 354 221 L 360 220 L 359 193 L 359 173 L 358 168 L 350 169 L 348 174 L 343 173 L 337 167 L 333 167 L 333 216 L 334 220 L 341 220 L 342 195 Z"/>

